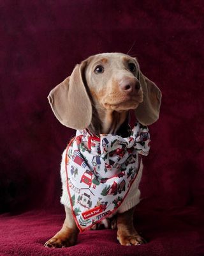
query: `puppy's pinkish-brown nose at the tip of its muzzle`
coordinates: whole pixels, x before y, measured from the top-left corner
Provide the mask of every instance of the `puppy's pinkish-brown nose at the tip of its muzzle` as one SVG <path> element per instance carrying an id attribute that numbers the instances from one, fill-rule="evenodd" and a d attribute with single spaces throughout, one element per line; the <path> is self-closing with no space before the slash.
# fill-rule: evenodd
<path id="1" fill-rule="evenodd" d="M 120 80 L 120 89 L 123 92 L 135 93 L 140 90 L 140 83 L 133 77 L 124 77 Z"/>

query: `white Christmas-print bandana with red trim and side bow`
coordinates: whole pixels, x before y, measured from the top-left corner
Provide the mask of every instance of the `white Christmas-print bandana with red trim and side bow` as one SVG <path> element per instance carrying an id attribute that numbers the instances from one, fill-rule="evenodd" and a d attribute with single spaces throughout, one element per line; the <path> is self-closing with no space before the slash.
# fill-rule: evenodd
<path id="1" fill-rule="evenodd" d="M 81 232 L 122 204 L 140 168 L 139 154 L 149 154 L 149 143 L 148 128 L 138 122 L 128 138 L 77 131 L 66 149 L 65 166 L 71 209 Z"/>

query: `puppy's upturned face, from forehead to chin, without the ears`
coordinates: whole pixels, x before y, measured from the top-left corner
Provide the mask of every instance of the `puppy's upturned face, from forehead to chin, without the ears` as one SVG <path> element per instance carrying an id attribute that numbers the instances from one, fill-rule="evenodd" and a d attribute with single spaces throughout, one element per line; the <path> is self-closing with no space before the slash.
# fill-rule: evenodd
<path id="1" fill-rule="evenodd" d="M 100 108 L 120 112 L 138 107 L 143 101 L 143 92 L 135 59 L 126 54 L 110 53 L 88 60 L 85 78 Z"/>

